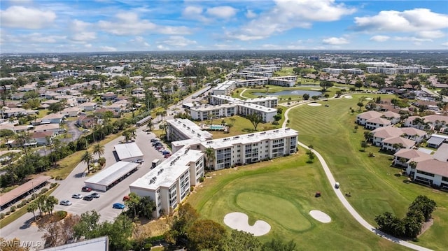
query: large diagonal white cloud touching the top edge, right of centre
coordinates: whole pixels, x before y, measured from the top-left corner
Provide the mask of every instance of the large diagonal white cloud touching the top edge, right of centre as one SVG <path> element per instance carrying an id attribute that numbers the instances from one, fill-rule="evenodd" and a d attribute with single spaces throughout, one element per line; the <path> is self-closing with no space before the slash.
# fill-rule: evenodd
<path id="1" fill-rule="evenodd" d="M 335 3 L 335 0 L 276 0 L 275 3 L 271 10 L 261 13 L 228 36 L 240 40 L 262 39 L 289 29 L 310 28 L 312 22 L 336 21 L 355 11 L 343 3 Z"/>

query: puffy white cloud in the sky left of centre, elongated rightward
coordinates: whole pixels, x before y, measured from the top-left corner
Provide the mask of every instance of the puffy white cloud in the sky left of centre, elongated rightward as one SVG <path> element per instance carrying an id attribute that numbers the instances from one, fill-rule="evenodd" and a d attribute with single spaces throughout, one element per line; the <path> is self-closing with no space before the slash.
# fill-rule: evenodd
<path id="1" fill-rule="evenodd" d="M 98 26 L 105 32 L 118 36 L 139 35 L 148 31 L 160 34 L 190 34 L 188 27 L 159 26 L 140 20 L 136 13 L 118 13 L 114 22 L 100 20 Z"/>

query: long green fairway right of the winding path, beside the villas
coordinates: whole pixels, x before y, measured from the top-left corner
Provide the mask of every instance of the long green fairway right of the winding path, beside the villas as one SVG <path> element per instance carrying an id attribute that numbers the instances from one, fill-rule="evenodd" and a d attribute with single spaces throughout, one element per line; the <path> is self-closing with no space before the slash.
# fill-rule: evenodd
<path id="1" fill-rule="evenodd" d="M 362 127 L 357 132 L 353 130 L 360 96 L 377 95 L 353 94 L 353 99 L 327 101 L 329 107 L 300 106 L 289 113 L 290 127 L 299 131 L 301 142 L 321 152 L 342 191 L 351 192 L 351 205 L 370 224 L 376 225 L 374 217 L 384 211 L 404 217 L 409 203 L 420 194 L 434 199 L 437 202 L 434 224 L 417 244 L 443 250 L 448 246 L 448 239 L 444 238 L 448 232 L 448 194 L 405 182 L 407 178 L 398 175 L 400 169 L 391 167 L 393 157 L 378 152 L 377 147 L 360 152 L 364 130 Z M 381 99 L 391 97 L 383 95 Z M 351 115 L 349 107 L 356 113 Z M 368 152 L 375 157 L 368 157 Z"/>

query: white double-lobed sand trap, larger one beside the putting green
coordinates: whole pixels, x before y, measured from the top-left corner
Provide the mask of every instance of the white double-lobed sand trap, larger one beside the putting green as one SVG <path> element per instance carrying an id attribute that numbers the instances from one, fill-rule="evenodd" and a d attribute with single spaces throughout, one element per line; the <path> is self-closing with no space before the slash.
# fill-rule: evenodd
<path id="1" fill-rule="evenodd" d="M 253 226 L 249 225 L 248 220 L 245 213 L 233 212 L 224 216 L 224 223 L 231 229 L 245 231 L 253 236 L 263 236 L 271 231 L 271 225 L 263 220 L 257 220 Z"/>

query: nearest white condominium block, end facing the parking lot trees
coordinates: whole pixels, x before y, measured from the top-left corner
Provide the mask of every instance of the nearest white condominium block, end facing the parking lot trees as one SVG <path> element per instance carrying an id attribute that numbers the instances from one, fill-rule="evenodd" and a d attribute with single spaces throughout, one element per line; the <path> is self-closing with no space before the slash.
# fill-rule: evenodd
<path id="1" fill-rule="evenodd" d="M 203 176 L 204 154 L 186 146 L 132 182 L 130 191 L 139 196 L 149 196 L 155 202 L 153 216 L 160 217 L 186 199 L 190 186 L 198 184 Z"/>

